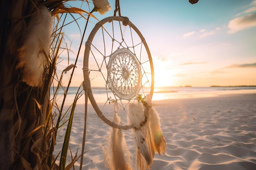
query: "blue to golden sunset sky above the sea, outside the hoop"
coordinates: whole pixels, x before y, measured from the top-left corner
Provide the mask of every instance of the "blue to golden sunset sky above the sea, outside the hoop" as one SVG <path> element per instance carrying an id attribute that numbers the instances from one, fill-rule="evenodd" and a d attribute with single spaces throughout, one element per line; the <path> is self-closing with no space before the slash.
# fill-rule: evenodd
<path id="1" fill-rule="evenodd" d="M 99 20 L 113 16 L 115 0 L 109 2 L 110 11 L 93 15 Z M 90 10 L 93 6 L 90 3 Z M 127 16 L 146 39 L 155 87 L 256 85 L 256 0 L 199 0 L 193 5 L 188 0 L 120 0 L 120 8 L 121 16 Z M 88 11 L 88 5 L 82 9 Z M 84 44 L 97 23 L 89 21 L 72 86 L 83 81 Z M 84 19 L 77 22 L 81 31 L 74 25 L 63 30 L 74 51 L 69 64 L 74 63 L 85 27 Z M 65 52 L 61 58 L 59 70 L 68 65 Z M 63 76 L 64 85 L 69 76 Z"/>

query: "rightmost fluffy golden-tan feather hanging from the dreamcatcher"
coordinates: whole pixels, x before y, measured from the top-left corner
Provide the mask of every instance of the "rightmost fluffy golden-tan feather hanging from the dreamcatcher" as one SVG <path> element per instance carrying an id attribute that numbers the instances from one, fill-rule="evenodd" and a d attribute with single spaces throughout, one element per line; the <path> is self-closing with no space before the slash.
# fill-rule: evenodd
<path id="1" fill-rule="evenodd" d="M 152 107 L 151 96 L 149 94 L 146 95 L 146 103 L 147 106 L 144 114 L 148 116 L 150 147 L 154 152 L 158 152 L 159 155 L 165 154 L 166 142 L 160 127 L 160 118 L 155 108 Z"/>

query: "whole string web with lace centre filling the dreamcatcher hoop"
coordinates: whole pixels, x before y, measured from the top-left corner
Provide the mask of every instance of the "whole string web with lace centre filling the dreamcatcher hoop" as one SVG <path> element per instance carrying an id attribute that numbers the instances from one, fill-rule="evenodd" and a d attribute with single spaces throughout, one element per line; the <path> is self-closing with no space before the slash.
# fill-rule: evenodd
<path id="1" fill-rule="evenodd" d="M 112 102 L 117 102 L 121 121 L 127 106 L 138 94 L 150 93 L 150 60 L 136 31 L 121 21 L 107 22 L 90 43 L 88 61 L 92 93 L 98 106 L 112 118 Z M 109 109 L 108 109 L 109 108 Z M 123 122 L 125 123 L 125 122 Z"/>

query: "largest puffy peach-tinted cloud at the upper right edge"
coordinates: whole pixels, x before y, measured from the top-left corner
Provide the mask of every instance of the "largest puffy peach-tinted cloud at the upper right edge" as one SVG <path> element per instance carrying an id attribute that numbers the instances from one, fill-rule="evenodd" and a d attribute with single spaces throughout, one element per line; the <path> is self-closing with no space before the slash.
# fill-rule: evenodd
<path id="1" fill-rule="evenodd" d="M 248 29 L 256 26 L 256 13 L 251 13 L 247 16 L 242 16 L 229 21 L 229 34 L 233 34 L 237 31 Z"/>

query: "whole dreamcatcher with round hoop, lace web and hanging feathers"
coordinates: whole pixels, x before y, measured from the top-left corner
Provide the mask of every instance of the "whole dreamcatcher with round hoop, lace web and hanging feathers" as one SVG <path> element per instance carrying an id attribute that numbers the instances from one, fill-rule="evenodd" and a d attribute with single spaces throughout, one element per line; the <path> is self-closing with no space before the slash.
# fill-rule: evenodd
<path id="1" fill-rule="evenodd" d="M 153 61 L 141 32 L 121 16 L 119 0 L 114 16 L 98 22 L 85 43 L 83 75 L 85 115 L 89 98 L 97 115 L 113 128 L 109 148 L 103 148 L 105 166 L 132 169 L 122 132 L 132 129 L 137 167 L 150 169 L 155 153 L 164 154 L 166 148 L 159 116 L 151 104 Z M 95 100 L 93 93 L 99 92 L 106 96 Z"/>

